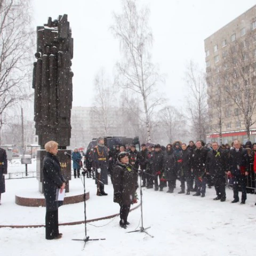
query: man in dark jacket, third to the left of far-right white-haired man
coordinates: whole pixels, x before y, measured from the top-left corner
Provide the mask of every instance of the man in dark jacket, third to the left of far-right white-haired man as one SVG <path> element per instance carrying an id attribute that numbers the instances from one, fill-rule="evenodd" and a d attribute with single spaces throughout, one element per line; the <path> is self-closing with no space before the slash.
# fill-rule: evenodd
<path id="1" fill-rule="evenodd" d="M 183 172 L 183 177 L 181 177 L 181 192 L 182 188 L 183 191 L 185 191 L 185 180 L 187 181 L 187 194 L 190 195 L 190 191 L 193 190 L 193 176 L 189 167 L 189 161 L 190 161 L 190 151 L 187 149 L 186 143 L 182 143 L 181 145 L 182 153 L 181 153 L 181 169 Z M 182 193 L 179 193 L 182 194 Z"/>

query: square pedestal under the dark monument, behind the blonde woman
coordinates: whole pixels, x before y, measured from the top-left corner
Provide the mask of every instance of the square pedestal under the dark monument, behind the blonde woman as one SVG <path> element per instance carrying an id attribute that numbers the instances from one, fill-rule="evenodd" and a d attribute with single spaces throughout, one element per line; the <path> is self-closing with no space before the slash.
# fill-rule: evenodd
<path id="1" fill-rule="evenodd" d="M 61 173 L 63 177 L 67 180 L 66 192 L 69 192 L 69 180 L 71 180 L 71 158 L 64 153 L 67 152 L 71 155 L 71 150 L 59 149 L 57 157 L 60 161 Z M 43 161 L 46 155 L 44 149 L 37 150 L 36 153 L 36 178 L 38 180 L 38 190 L 43 193 Z"/>

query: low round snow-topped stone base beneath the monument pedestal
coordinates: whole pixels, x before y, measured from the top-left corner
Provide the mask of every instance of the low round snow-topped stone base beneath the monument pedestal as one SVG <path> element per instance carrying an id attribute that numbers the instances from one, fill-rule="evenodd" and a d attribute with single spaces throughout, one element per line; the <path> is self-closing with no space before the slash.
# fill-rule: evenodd
<path id="1" fill-rule="evenodd" d="M 85 200 L 88 200 L 89 198 L 90 191 L 86 191 Z M 72 191 L 70 191 L 69 193 L 65 194 L 63 204 L 75 204 L 83 201 L 84 194 L 76 194 L 75 192 L 72 193 Z M 31 191 L 31 194 L 29 193 L 29 191 L 23 191 L 15 194 L 15 203 L 22 206 L 38 207 L 45 206 L 45 199 L 44 195 L 39 193 L 39 191 L 38 193 L 35 193 L 35 191 Z"/>

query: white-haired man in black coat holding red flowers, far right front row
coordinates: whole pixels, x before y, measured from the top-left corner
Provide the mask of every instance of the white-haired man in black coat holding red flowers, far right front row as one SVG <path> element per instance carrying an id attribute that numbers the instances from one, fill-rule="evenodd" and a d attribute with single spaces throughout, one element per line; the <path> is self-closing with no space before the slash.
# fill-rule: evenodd
<path id="1" fill-rule="evenodd" d="M 241 204 L 245 204 L 246 195 L 246 177 L 250 172 L 250 159 L 247 150 L 241 147 L 239 140 L 234 141 L 234 148 L 229 152 L 229 171 L 233 180 L 234 200 L 232 203 L 239 202 L 238 186 L 242 189 Z"/>

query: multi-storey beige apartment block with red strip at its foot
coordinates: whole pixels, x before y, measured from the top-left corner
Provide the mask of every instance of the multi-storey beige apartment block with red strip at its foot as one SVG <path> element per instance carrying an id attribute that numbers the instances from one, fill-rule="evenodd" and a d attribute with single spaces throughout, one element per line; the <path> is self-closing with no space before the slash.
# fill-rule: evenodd
<path id="1" fill-rule="evenodd" d="M 209 106 L 207 141 L 256 142 L 256 5 L 204 41 Z M 256 102 L 255 102 L 256 103 Z M 248 129 L 247 129 L 248 130 Z"/>

